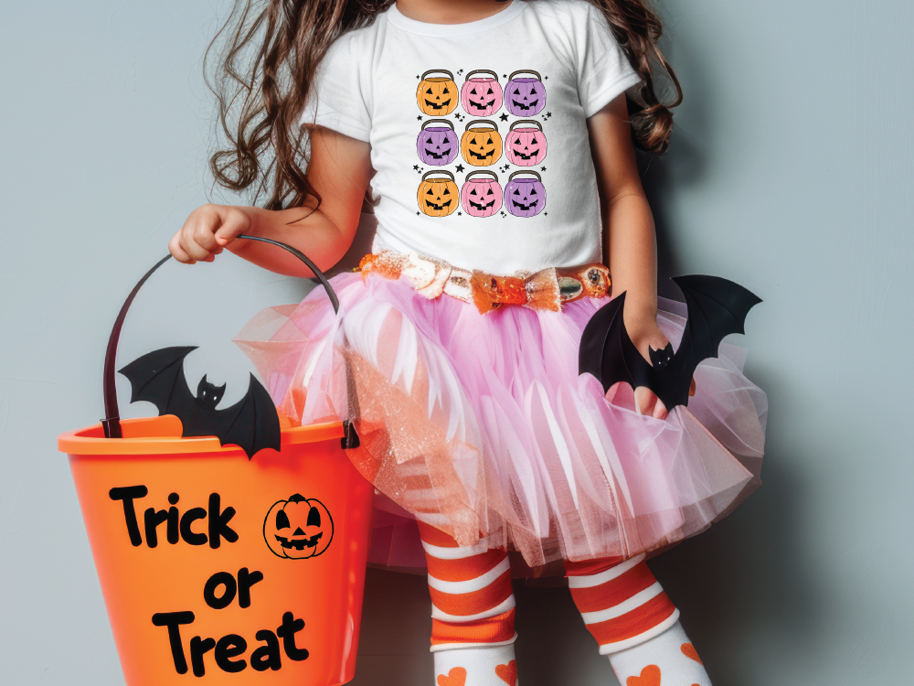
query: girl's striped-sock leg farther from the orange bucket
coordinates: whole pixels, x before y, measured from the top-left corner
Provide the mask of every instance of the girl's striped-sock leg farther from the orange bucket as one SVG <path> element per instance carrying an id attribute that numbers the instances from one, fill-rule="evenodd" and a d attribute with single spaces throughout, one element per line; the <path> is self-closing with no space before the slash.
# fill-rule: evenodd
<path id="1" fill-rule="evenodd" d="M 584 624 L 622 686 L 710 686 L 679 610 L 643 555 L 622 563 L 566 562 L 565 570 Z"/>

